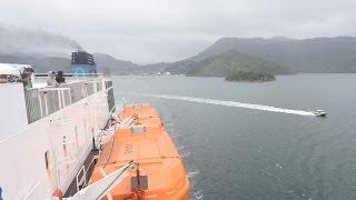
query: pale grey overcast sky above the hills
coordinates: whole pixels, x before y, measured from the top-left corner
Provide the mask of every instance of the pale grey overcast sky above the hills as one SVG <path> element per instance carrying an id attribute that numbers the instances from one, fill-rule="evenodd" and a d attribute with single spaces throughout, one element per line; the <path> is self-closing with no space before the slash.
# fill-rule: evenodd
<path id="1" fill-rule="evenodd" d="M 154 63 L 195 56 L 221 37 L 356 36 L 355 8 L 355 0 L 0 0 L 0 24 Z"/>

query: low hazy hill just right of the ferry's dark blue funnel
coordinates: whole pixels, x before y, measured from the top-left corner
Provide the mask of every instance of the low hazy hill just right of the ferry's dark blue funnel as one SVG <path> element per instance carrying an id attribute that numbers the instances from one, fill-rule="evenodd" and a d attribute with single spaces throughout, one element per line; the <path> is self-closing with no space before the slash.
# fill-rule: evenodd
<path id="1" fill-rule="evenodd" d="M 93 53 L 93 59 L 97 66 L 109 68 L 112 74 L 126 74 L 140 68 L 141 66 L 132 63 L 130 61 L 118 60 L 109 54 Z"/>

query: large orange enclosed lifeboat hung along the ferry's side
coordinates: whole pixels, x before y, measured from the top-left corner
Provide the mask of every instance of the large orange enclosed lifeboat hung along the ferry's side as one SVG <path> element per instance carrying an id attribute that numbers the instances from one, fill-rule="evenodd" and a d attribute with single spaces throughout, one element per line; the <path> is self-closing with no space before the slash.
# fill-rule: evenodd
<path id="1" fill-rule="evenodd" d="M 139 170 L 113 188 L 108 199 L 188 199 L 182 159 L 158 112 L 148 103 L 130 104 L 116 119 L 117 131 L 102 149 L 91 183 L 136 160 Z"/>

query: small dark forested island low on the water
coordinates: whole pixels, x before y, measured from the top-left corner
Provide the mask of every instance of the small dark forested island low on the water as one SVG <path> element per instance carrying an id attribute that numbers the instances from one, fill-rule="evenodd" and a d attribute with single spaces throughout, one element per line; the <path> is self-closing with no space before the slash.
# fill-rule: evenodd
<path id="1" fill-rule="evenodd" d="M 227 76 L 225 80 L 231 82 L 267 82 L 275 81 L 276 77 L 268 72 L 238 71 Z"/>

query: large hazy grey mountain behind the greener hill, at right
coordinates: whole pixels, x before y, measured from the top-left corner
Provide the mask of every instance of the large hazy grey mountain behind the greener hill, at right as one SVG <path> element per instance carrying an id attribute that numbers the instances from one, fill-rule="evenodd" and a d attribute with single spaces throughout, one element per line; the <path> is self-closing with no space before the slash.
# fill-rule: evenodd
<path id="1" fill-rule="evenodd" d="M 222 38 L 188 60 L 201 61 L 231 49 L 279 63 L 297 73 L 356 72 L 356 38 L 354 37 L 305 40 Z"/>

